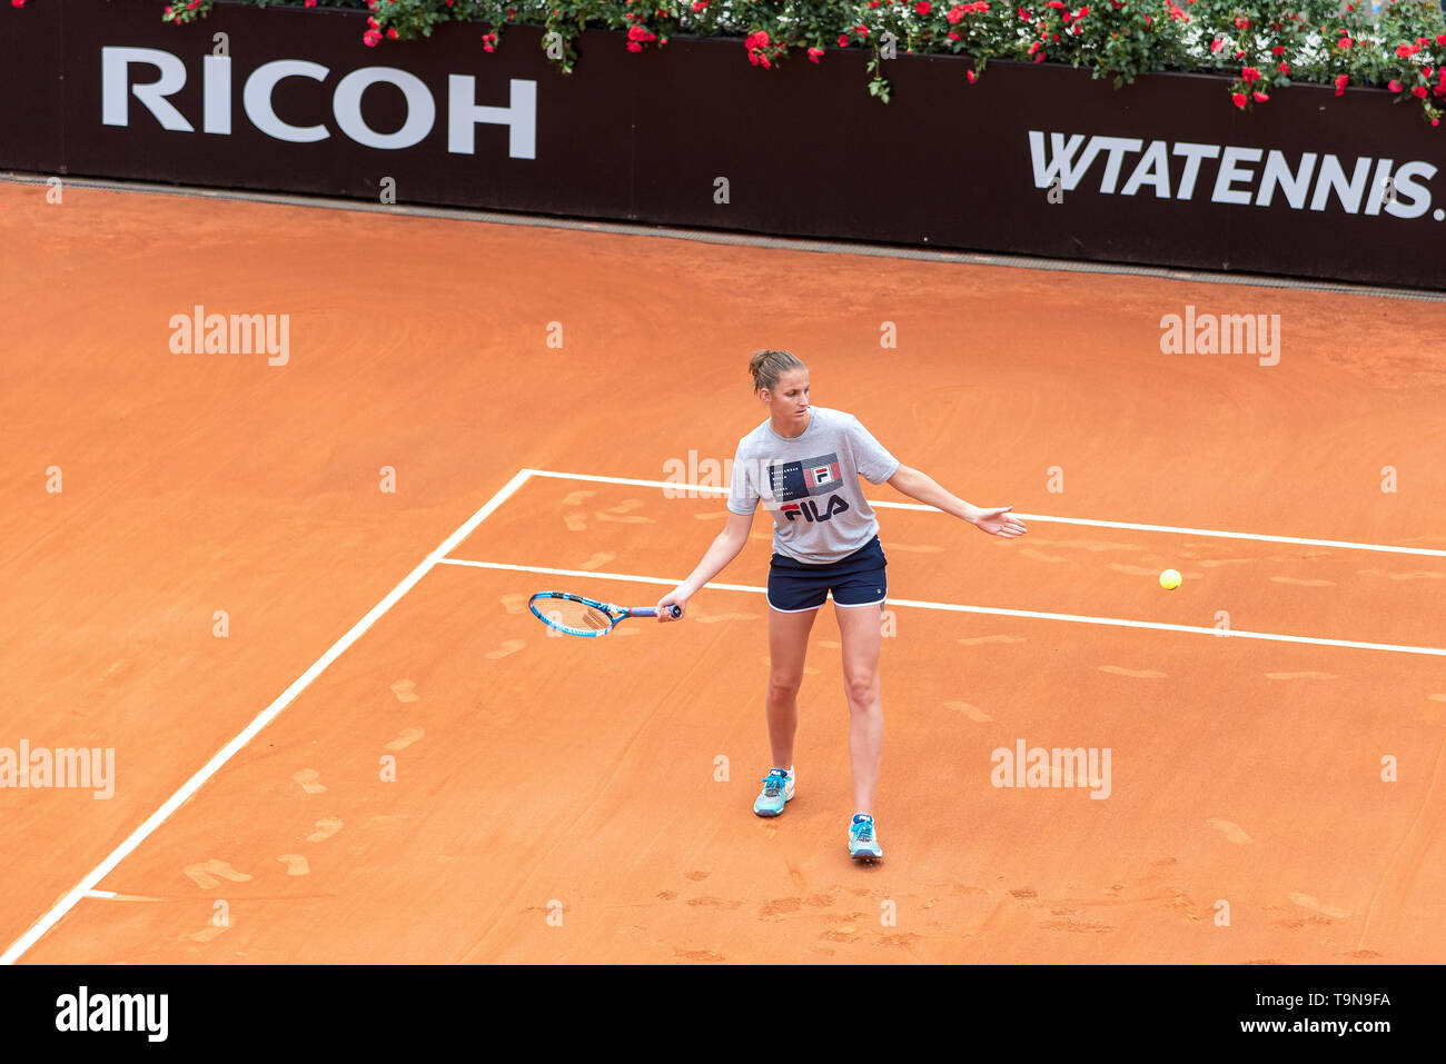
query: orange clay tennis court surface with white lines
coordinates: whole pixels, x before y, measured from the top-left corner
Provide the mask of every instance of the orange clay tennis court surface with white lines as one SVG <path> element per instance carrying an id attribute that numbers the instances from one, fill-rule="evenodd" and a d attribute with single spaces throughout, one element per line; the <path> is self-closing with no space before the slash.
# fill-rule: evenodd
<path id="1" fill-rule="evenodd" d="M 0 791 L 7 961 L 1446 960 L 1440 302 L 26 184 L 0 243 L 0 747 L 116 756 Z M 195 304 L 288 364 L 172 353 Z M 1280 363 L 1161 354 L 1186 305 Z M 879 507 L 872 867 L 829 607 L 750 811 L 766 516 L 684 623 L 525 606 L 691 571 L 723 500 L 658 481 L 759 347 L 1030 526 Z M 1019 740 L 1109 797 L 992 785 Z"/>

